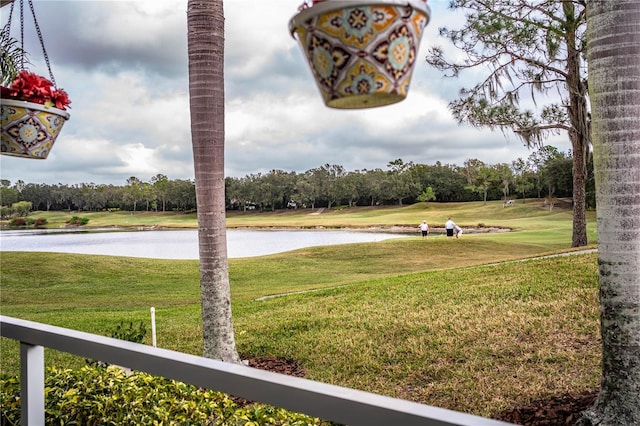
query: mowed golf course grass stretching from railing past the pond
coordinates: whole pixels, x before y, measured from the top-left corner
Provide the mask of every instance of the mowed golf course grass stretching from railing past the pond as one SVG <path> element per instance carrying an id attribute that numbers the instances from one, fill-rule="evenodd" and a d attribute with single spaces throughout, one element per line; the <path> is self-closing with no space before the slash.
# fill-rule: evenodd
<path id="1" fill-rule="evenodd" d="M 485 225 L 501 224 L 498 207 L 475 207 Z M 238 350 L 295 359 L 314 380 L 483 416 L 597 387 L 596 255 L 515 261 L 568 251 L 571 239 L 566 211 L 527 203 L 518 217 L 516 208 L 499 206 L 502 223 L 518 232 L 230 260 Z M 353 220 L 375 224 L 378 215 L 378 224 L 401 224 L 381 212 L 403 211 L 417 227 L 430 209 L 371 210 Z M 471 223 L 472 210 L 452 214 Z M 429 213 L 446 220 L 443 211 Z M 254 226 L 275 223 L 270 216 Z M 3 315 L 109 334 L 122 320 L 149 323 L 153 306 L 159 346 L 201 353 L 197 261 L 16 252 L 0 261 Z M 261 299 L 269 295 L 279 297 Z M 2 339 L 0 351 L 0 370 L 15 374 L 17 344 Z M 46 358 L 84 363 L 49 350 Z"/>

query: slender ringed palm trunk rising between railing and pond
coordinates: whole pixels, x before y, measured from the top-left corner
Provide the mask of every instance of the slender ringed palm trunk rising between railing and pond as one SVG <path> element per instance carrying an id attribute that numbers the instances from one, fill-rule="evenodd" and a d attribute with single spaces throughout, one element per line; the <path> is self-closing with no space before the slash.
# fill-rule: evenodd
<path id="1" fill-rule="evenodd" d="M 187 24 L 204 356 L 239 363 L 231 318 L 224 201 L 222 0 L 189 0 Z"/>

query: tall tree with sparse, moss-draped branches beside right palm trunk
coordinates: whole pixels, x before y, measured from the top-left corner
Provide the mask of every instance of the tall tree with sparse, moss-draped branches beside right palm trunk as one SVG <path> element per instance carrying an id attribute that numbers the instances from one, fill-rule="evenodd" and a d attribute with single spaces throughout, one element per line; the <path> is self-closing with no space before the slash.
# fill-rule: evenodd
<path id="1" fill-rule="evenodd" d="M 551 134 L 566 132 L 573 155 L 571 246 L 586 245 L 591 141 L 585 0 L 451 0 L 450 7 L 467 13 L 461 29 L 440 29 L 458 51 L 447 55 L 433 47 L 427 63 L 452 77 L 471 69 L 484 73 L 449 104 L 454 117 L 460 123 L 513 132 L 530 148 L 543 146 Z"/>

